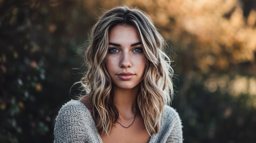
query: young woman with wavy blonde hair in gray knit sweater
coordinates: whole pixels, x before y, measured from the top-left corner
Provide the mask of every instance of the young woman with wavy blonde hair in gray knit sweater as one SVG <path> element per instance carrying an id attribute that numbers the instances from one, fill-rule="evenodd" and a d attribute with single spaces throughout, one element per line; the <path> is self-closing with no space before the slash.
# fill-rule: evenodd
<path id="1" fill-rule="evenodd" d="M 143 11 L 103 13 L 85 53 L 85 94 L 59 111 L 54 143 L 182 143 L 180 117 L 168 106 L 173 69 L 165 46 Z"/>

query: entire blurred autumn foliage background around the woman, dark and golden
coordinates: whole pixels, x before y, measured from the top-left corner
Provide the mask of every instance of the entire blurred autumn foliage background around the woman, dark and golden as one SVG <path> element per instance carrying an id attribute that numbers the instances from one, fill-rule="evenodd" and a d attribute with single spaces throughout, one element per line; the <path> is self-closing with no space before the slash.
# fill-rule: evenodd
<path id="1" fill-rule="evenodd" d="M 172 46 L 184 143 L 255 143 L 255 0 L 0 0 L 0 142 L 53 142 L 90 27 L 121 4 Z"/>

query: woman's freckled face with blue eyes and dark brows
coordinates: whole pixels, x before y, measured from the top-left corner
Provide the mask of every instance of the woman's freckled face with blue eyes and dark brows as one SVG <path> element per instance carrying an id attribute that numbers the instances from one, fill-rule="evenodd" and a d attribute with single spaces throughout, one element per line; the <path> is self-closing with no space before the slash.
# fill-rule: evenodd
<path id="1" fill-rule="evenodd" d="M 109 32 L 106 69 L 114 88 L 132 89 L 144 78 L 146 59 L 136 29 L 117 25 Z"/>

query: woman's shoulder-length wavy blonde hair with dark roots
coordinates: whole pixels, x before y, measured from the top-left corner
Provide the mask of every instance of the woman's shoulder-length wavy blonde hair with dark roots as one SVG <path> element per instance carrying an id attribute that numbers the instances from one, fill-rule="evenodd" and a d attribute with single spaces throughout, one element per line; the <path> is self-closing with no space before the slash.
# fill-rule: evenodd
<path id="1" fill-rule="evenodd" d="M 120 6 L 105 11 L 91 29 L 85 51 L 87 72 L 79 82 L 83 95 L 92 99 L 92 117 L 99 134 L 108 135 L 117 122 L 119 111 L 113 104 L 110 75 L 106 70 L 108 33 L 118 24 L 137 29 L 146 58 L 144 80 L 141 81 L 136 106 L 144 119 L 146 130 L 152 136 L 161 127 L 164 105 L 173 97 L 173 68 L 164 49 L 168 46 L 150 17 L 137 8 Z"/>

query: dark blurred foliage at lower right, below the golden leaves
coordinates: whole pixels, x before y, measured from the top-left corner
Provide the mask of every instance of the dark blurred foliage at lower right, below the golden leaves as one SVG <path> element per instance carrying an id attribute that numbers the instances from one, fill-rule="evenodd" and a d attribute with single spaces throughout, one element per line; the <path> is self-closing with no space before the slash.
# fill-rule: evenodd
<path id="1" fill-rule="evenodd" d="M 180 84 L 184 83 L 176 83 Z M 256 108 L 248 104 L 251 100 L 249 95 L 232 97 L 220 90 L 208 92 L 196 79 L 192 79 L 184 95 L 178 93 L 173 102 L 184 126 L 184 142 L 253 143 L 256 139 L 253 134 Z"/>

